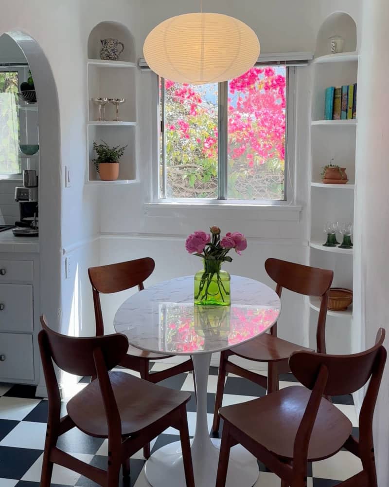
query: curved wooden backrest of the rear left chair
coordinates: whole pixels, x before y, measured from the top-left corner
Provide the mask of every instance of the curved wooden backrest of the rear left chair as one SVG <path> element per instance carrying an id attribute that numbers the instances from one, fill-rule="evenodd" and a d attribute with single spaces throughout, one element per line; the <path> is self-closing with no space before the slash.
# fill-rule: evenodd
<path id="1" fill-rule="evenodd" d="M 100 293 L 112 294 L 138 286 L 144 289 L 145 281 L 155 268 L 151 257 L 133 261 L 118 262 L 98 267 L 89 267 L 88 276 L 92 284 L 94 313 L 96 319 L 96 335 L 104 335 L 103 313 L 101 311 Z"/>

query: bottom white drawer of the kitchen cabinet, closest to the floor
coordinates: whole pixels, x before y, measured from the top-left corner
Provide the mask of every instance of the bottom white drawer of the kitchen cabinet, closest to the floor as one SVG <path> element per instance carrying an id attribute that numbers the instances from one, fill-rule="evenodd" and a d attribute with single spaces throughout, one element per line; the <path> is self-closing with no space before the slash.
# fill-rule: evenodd
<path id="1" fill-rule="evenodd" d="M 32 335 L 0 333 L 0 379 L 34 380 Z"/>

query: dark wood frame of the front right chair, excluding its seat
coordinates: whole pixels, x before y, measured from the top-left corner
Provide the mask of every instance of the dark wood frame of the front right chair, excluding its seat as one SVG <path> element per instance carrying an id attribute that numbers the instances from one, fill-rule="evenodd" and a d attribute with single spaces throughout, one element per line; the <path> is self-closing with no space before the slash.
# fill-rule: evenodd
<path id="1" fill-rule="evenodd" d="M 325 355 L 315 352 L 295 352 L 291 355 L 290 368 L 293 374 L 305 387 L 312 390 L 295 436 L 293 458 L 280 458 L 276 453 L 253 441 L 224 417 L 224 408 L 222 408 L 220 413 L 224 419 L 224 426 L 216 487 L 225 486 L 230 448 L 238 443 L 282 479 L 281 487 L 306 487 L 311 433 L 320 403 L 326 401 L 322 396 L 353 393 L 363 387 L 369 379 L 369 386 L 359 415 L 359 440 L 350 434 L 343 445 L 346 450 L 360 458 L 363 469 L 337 485 L 339 487 L 377 487 L 372 422 L 387 357 L 386 349 L 382 346 L 384 338 L 385 330 L 380 328 L 374 347 L 350 356 Z M 262 419 L 266 421 L 265 417 Z M 325 442 L 326 437 L 316 438 L 315 441 Z M 339 450 L 338 448 L 332 454 L 336 454 Z"/>

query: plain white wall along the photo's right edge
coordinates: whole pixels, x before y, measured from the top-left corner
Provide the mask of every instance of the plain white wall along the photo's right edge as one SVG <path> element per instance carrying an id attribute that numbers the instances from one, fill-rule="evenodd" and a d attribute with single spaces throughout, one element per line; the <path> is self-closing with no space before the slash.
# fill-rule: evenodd
<path id="1" fill-rule="evenodd" d="M 359 243 L 354 254 L 355 348 L 370 347 L 380 326 L 388 332 L 388 19 L 388 2 L 364 2 L 358 79 L 358 184 L 354 225 L 354 238 Z M 379 487 L 389 484 L 388 403 L 387 364 L 374 417 Z"/>

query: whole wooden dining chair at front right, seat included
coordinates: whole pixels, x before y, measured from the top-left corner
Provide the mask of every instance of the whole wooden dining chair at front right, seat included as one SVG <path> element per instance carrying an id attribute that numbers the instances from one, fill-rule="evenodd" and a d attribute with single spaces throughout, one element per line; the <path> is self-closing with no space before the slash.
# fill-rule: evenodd
<path id="1" fill-rule="evenodd" d="M 329 458 L 341 448 L 360 458 L 362 470 L 337 486 L 377 487 L 372 420 L 386 362 L 384 338 L 381 328 L 370 350 L 349 356 L 294 352 L 290 368 L 305 387 L 221 408 L 216 487 L 225 486 L 230 448 L 238 443 L 281 478 L 281 487 L 306 487 L 307 462 Z M 322 396 L 354 393 L 369 379 L 357 440 L 351 421 Z"/>

